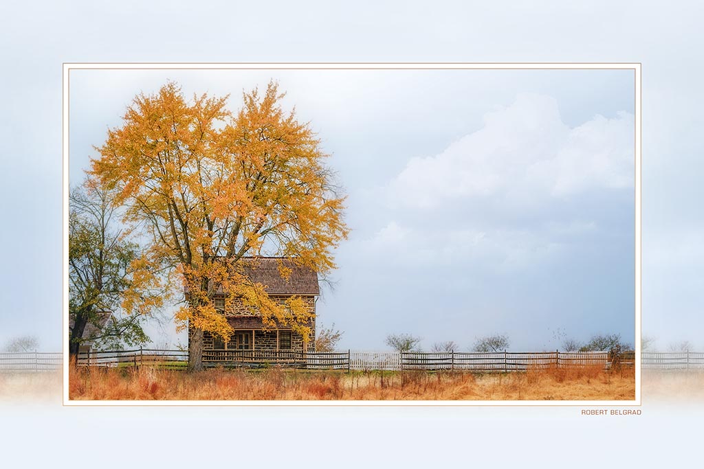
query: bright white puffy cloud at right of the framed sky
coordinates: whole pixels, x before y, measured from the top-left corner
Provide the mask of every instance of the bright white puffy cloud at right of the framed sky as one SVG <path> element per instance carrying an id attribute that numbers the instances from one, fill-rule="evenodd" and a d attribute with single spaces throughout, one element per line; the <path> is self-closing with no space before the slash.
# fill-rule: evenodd
<path id="1" fill-rule="evenodd" d="M 394 207 L 429 209 L 473 197 L 524 203 L 633 184 L 633 115 L 596 115 L 570 128 L 554 98 L 520 94 L 484 115 L 482 129 L 438 155 L 410 160 L 386 189 Z"/>

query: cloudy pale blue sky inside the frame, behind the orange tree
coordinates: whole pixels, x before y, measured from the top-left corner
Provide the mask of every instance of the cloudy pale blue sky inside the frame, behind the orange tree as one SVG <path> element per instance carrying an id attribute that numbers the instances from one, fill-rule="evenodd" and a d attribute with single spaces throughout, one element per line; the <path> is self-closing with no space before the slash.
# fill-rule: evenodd
<path id="1" fill-rule="evenodd" d="M 319 324 L 340 347 L 412 333 L 514 350 L 634 341 L 632 70 L 75 70 L 70 180 L 139 92 L 230 94 L 270 79 L 310 122 L 348 194 Z M 186 343 L 151 326 L 157 345 Z"/>

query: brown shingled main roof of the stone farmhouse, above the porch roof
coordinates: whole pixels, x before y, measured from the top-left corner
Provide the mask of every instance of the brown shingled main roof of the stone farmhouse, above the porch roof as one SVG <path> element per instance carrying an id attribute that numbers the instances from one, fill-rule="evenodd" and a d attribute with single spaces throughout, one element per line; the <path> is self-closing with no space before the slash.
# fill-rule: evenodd
<path id="1" fill-rule="evenodd" d="M 244 259 L 244 274 L 254 283 L 264 285 L 266 293 L 274 296 L 318 296 L 318 274 L 306 266 L 298 266 L 289 257 L 247 257 Z M 291 269 L 289 278 L 279 273 L 279 262 Z M 188 293 L 189 288 L 184 288 Z M 218 293 L 224 293 L 222 287 Z"/>

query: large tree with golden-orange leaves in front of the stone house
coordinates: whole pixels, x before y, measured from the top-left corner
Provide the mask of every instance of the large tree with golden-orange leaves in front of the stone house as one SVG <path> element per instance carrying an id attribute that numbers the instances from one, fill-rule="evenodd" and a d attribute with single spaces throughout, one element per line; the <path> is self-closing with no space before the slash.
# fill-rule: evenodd
<path id="1" fill-rule="evenodd" d="M 244 272 L 257 256 L 290 257 L 325 276 L 332 250 L 346 238 L 344 197 L 308 123 L 284 113 L 277 84 L 244 93 L 230 113 L 227 96 L 184 98 L 169 82 L 139 94 L 122 126 L 108 131 L 92 174 L 118 188 L 125 221 L 151 236 L 151 262 L 168 262 L 188 291 L 177 311 L 189 330 L 189 368 L 202 368 L 203 331 L 227 341 L 232 328 L 218 313 L 218 288 L 240 298 L 263 323 L 308 337 L 310 311 L 300 297 L 270 299 Z M 282 276 L 290 274 L 283 264 Z"/>

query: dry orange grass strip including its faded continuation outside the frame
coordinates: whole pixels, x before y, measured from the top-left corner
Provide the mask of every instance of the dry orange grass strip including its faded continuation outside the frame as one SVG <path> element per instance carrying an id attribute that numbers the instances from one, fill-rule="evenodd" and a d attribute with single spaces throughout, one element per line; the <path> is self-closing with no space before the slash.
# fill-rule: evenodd
<path id="1" fill-rule="evenodd" d="M 284 371 L 270 370 L 267 374 L 268 380 L 244 371 L 211 370 L 192 378 L 184 378 L 184 373 L 176 371 L 155 372 L 146 368 L 141 373 L 127 372 L 124 375 L 114 371 L 79 372 L 71 373 L 70 393 L 71 399 L 611 400 L 630 399 L 634 392 L 632 375 L 626 372 L 623 376 L 618 373 L 607 376 L 600 372 L 593 375 L 596 379 L 588 375 L 567 379 L 567 375 L 555 373 L 408 374 L 403 378 L 396 373 L 384 375 L 384 387 L 379 373 L 299 373 L 296 377 Z M 199 384 L 201 380 L 202 385 Z M 226 383 L 237 384 L 230 390 L 223 390 Z M 276 383 L 283 386 L 276 387 Z M 107 388 L 108 384 L 117 387 L 111 390 Z M 243 388 L 249 385 L 254 387 Z M 172 392 L 168 391 L 169 386 L 175 386 L 171 388 Z M 301 393 L 298 396 L 293 395 L 296 389 Z M 641 391 L 644 404 L 653 401 L 704 402 L 704 372 L 643 370 Z M 268 393 L 268 397 L 263 397 L 263 392 Z M 335 397 L 336 392 L 341 397 Z M 61 402 L 61 373 L 0 373 L 0 403 L 16 401 Z"/>

